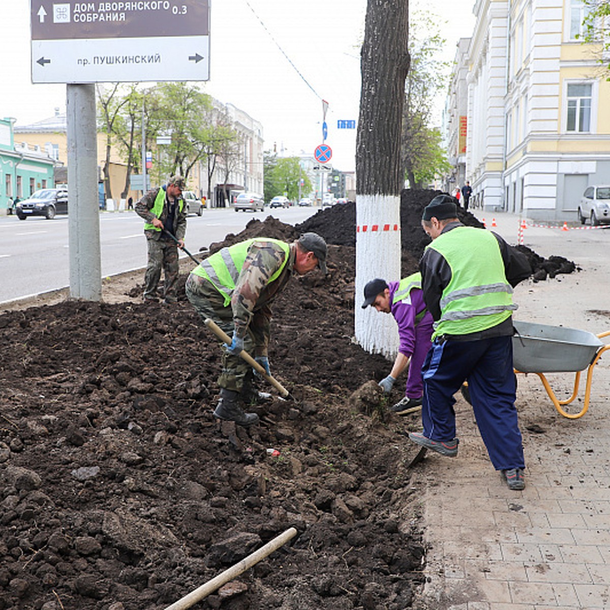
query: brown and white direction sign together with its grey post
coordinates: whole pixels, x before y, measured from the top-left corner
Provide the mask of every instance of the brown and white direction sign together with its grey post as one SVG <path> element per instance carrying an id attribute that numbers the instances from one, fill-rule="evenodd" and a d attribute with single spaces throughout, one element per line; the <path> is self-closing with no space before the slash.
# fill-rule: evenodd
<path id="1" fill-rule="evenodd" d="M 71 298 L 102 292 L 94 84 L 207 81 L 209 13 L 209 0 L 30 0 L 32 82 L 66 83 Z"/>

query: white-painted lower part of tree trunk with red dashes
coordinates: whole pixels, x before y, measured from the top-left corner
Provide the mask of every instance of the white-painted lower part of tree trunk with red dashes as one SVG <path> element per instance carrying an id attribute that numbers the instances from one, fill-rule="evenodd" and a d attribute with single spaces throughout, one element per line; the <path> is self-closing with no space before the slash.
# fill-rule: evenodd
<path id="1" fill-rule="evenodd" d="M 400 196 L 356 196 L 356 303 L 354 331 L 370 353 L 393 359 L 398 353 L 398 330 L 391 314 L 375 307 L 362 309 L 364 286 L 375 278 L 400 280 Z"/>

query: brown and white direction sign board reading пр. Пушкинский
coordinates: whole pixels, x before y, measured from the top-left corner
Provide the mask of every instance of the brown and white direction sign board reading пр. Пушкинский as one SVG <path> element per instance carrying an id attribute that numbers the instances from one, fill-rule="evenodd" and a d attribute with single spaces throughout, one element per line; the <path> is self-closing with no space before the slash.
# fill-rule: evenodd
<path id="1" fill-rule="evenodd" d="M 207 81 L 209 0 L 30 0 L 32 82 Z"/>

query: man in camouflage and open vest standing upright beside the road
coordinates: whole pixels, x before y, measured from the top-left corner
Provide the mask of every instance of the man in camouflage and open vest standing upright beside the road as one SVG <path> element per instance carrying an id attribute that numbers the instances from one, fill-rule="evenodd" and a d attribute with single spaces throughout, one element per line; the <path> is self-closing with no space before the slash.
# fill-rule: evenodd
<path id="1" fill-rule="evenodd" d="M 167 185 L 149 190 L 135 204 L 135 211 L 146 221 L 144 233 L 148 245 L 148 264 L 144 276 L 144 301 L 158 301 L 157 285 L 161 270 L 165 273 L 163 300 L 176 303 L 178 248 L 184 248 L 187 213 L 182 189 L 184 178 L 172 176 Z"/>

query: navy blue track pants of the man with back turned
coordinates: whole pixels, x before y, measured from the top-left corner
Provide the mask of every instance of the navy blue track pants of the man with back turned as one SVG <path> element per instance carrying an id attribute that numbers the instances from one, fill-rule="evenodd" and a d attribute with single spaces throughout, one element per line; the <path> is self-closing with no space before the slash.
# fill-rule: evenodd
<path id="1" fill-rule="evenodd" d="M 468 381 L 476 424 L 496 470 L 525 468 L 512 368 L 512 337 L 478 341 L 436 339 L 422 367 L 423 434 L 456 436 L 454 393 Z"/>

